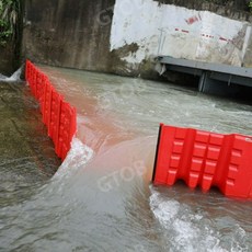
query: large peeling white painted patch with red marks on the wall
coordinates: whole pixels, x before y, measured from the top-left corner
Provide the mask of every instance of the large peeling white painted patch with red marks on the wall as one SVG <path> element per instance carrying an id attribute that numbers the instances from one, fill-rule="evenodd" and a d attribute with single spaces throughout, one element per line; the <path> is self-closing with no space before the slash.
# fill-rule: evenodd
<path id="1" fill-rule="evenodd" d="M 137 43 L 138 50 L 122 58 L 131 65 L 165 55 L 241 66 L 250 33 L 249 23 L 208 11 L 153 0 L 116 0 L 111 50 Z"/>

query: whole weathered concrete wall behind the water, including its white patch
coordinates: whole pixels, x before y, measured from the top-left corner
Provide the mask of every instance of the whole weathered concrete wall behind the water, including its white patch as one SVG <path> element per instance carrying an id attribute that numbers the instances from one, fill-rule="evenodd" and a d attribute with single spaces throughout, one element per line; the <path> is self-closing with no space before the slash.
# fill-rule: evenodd
<path id="1" fill-rule="evenodd" d="M 228 2 L 26 0 L 23 55 L 51 66 L 142 77 L 156 77 L 157 55 L 251 66 L 251 16 L 234 10 L 238 0 Z"/>

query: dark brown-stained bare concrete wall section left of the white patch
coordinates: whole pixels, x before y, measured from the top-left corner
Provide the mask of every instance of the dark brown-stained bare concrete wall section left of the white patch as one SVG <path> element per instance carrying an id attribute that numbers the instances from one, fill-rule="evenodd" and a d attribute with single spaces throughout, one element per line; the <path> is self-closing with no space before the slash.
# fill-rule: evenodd
<path id="1" fill-rule="evenodd" d="M 110 71 L 114 0 L 26 0 L 23 55 L 35 62 Z"/>

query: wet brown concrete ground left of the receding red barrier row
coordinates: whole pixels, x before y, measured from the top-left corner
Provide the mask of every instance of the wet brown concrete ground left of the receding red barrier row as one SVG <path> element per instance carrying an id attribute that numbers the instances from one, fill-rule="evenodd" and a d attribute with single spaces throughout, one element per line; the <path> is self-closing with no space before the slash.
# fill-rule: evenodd
<path id="1" fill-rule="evenodd" d="M 32 196 L 60 160 L 24 83 L 0 82 L 0 205 L 4 206 Z"/>

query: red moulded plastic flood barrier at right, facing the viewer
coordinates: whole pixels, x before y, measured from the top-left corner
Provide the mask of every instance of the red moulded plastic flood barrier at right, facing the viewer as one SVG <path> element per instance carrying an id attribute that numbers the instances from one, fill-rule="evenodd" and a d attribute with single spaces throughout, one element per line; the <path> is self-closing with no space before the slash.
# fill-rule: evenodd
<path id="1" fill-rule="evenodd" d="M 252 198 L 252 137 L 161 124 L 152 182 L 177 180 L 191 188 L 217 186 L 226 196 Z"/>

